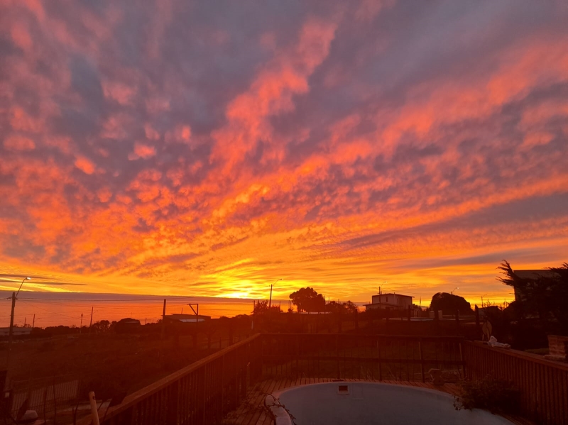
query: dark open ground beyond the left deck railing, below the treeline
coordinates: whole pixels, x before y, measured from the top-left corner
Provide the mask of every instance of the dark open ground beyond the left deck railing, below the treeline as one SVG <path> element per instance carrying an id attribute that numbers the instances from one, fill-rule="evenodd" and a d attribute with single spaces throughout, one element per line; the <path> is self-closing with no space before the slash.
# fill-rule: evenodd
<path id="1" fill-rule="evenodd" d="M 251 334 L 250 321 L 213 319 L 197 333 L 193 326 L 167 329 L 163 339 L 160 331 L 109 331 L 14 341 L 9 385 L 18 390 L 33 387 L 34 382 L 40 386 L 79 380 L 82 391 L 94 390 L 97 398 L 130 394 L 229 346 L 231 333 L 233 342 L 246 338 Z M 0 368 L 6 369 L 7 343 L 1 343 L 0 350 Z"/>

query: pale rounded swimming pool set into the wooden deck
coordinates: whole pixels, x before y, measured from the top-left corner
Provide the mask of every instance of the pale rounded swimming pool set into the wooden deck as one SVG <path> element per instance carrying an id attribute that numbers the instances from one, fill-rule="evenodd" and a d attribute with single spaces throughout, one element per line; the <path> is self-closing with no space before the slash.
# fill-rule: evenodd
<path id="1" fill-rule="evenodd" d="M 302 385 L 268 395 L 265 403 L 276 425 L 512 424 L 484 410 L 457 411 L 445 392 L 377 382 Z"/>

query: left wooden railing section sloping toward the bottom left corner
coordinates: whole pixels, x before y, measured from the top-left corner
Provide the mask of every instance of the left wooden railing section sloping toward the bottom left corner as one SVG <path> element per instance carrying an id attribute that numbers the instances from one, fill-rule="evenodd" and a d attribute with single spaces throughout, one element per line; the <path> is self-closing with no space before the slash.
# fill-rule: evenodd
<path id="1" fill-rule="evenodd" d="M 127 396 L 101 425 L 217 424 L 239 406 L 261 371 L 260 335 L 224 348 Z M 249 379 L 247 379 L 247 377 Z M 91 419 L 78 422 L 91 424 Z"/>

